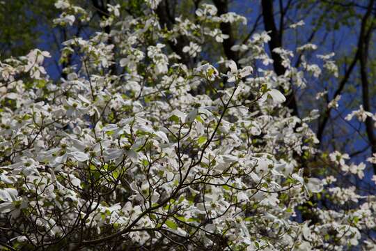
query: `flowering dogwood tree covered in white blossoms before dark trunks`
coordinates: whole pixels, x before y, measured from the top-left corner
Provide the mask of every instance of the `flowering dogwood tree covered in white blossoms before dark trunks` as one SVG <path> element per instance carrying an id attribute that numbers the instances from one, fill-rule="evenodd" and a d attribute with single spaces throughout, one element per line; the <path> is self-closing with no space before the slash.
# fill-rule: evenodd
<path id="1" fill-rule="evenodd" d="M 203 4 L 196 22 L 168 28 L 158 5 L 135 16 L 107 6 L 100 25 L 111 32 L 65 41 L 61 61 L 78 60 L 58 82 L 43 67 L 48 52 L 0 62 L 3 250 L 375 249 L 375 197 L 304 169 L 315 158 L 363 178 L 365 164 L 320 153 L 308 126 L 318 112 L 299 119 L 284 105 L 306 75 L 337 74 L 330 56 L 319 56 L 322 70 L 305 59 L 295 68 L 278 48 L 277 75 L 263 32 L 232 48 L 239 63 L 200 61 L 207 41 L 228 39 L 221 24 L 245 17 Z M 67 0 L 56 8 L 56 25 L 91 17 Z M 169 48 L 180 36 L 179 55 Z"/>

